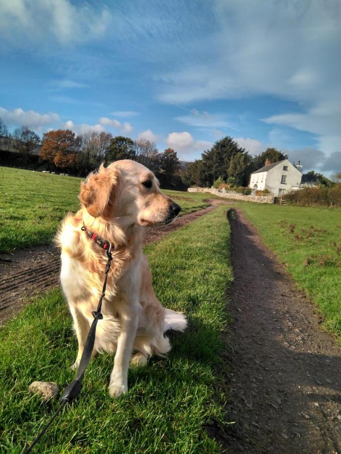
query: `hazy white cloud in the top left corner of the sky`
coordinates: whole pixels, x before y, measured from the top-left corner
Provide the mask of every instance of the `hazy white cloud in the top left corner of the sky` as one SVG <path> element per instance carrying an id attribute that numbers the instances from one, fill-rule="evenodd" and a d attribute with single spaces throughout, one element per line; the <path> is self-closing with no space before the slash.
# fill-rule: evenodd
<path id="1" fill-rule="evenodd" d="M 89 41 L 104 35 L 111 22 L 110 11 L 89 3 L 70 0 L 3 0 L 0 2 L 0 35 L 12 44 L 39 42 L 48 38 L 62 43 Z"/>

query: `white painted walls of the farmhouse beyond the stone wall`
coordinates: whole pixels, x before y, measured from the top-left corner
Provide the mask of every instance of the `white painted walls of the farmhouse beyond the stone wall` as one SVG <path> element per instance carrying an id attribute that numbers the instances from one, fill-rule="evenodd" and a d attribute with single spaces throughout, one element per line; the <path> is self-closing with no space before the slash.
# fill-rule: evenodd
<path id="1" fill-rule="evenodd" d="M 288 166 L 287 171 L 283 170 L 286 165 Z M 282 175 L 287 177 L 285 184 L 281 183 Z M 285 159 L 268 172 L 252 174 L 249 187 L 253 189 L 256 184 L 258 189 L 268 188 L 274 196 L 278 196 L 290 192 L 293 186 L 299 186 L 301 178 L 301 172 L 288 159 Z"/>

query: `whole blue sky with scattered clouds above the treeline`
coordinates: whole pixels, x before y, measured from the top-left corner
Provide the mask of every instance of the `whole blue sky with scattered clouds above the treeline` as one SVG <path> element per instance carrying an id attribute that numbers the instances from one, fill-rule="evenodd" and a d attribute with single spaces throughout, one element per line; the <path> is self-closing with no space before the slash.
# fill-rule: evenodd
<path id="1" fill-rule="evenodd" d="M 341 170 L 338 0 L 3 0 L 0 117 L 194 160 L 230 135 Z"/>

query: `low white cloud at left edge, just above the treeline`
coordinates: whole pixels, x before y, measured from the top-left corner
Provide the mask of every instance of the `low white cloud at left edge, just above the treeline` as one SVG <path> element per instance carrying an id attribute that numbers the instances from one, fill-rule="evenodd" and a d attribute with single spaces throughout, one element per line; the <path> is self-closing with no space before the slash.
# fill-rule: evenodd
<path id="1" fill-rule="evenodd" d="M 25 111 L 20 107 L 13 110 L 0 107 L 0 117 L 8 126 L 27 126 L 35 131 L 42 131 L 46 129 L 47 125 L 60 121 L 57 113 L 38 113 L 34 110 Z"/>

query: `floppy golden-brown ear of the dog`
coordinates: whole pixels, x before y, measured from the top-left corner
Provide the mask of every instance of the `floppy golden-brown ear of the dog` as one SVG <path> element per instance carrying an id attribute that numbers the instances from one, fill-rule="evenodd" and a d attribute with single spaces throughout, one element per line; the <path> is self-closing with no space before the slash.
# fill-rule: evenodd
<path id="1" fill-rule="evenodd" d="M 118 186 L 120 171 L 117 168 L 103 164 L 98 172 L 90 174 L 85 182 L 81 183 L 79 200 L 93 217 L 101 216 L 109 202 L 115 198 L 115 187 Z"/>

